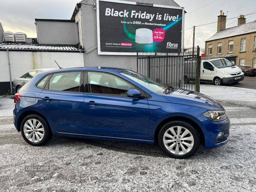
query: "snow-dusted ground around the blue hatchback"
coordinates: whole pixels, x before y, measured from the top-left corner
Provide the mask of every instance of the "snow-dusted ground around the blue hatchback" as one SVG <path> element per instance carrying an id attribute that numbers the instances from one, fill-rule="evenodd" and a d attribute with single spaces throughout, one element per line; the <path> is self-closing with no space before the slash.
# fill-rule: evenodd
<path id="1" fill-rule="evenodd" d="M 201 85 L 201 92 L 224 105 L 230 142 L 201 146 L 185 160 L 141 143 L 53 137 L 31 146 L 12 123 L 13 99 L 0 97 L 0 191 L 256 192 L 256 90 Z"/>

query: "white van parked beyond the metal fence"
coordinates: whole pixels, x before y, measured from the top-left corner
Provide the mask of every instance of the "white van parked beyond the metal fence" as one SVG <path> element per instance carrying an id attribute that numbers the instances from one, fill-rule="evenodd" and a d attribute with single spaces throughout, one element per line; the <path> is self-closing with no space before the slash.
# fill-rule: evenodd
<path id="1" fill-rule="evenodd" d="M 200 82 L 215 85 L 237 83 L 244 80 L 244 73 L 226 58 L 201 60 Z"/>

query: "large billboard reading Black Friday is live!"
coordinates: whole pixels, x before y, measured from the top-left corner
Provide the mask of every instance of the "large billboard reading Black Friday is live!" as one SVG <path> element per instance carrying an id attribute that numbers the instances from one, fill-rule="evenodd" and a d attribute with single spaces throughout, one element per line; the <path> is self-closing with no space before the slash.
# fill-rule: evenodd
<path id="1" fill-rule="evenodd" d="M 180 52 L 182 15 L 181 7 L 97 0 L 98 53 Z"/>

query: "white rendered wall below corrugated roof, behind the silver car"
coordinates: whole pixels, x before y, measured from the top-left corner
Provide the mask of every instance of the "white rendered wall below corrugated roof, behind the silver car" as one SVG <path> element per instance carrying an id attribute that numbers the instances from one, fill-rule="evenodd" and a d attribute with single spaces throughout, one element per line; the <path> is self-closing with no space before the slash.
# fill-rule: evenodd
<path id="1" fill-rule="evenodd" d="M 82 53 L 9 51 L 12 81 L 28 70 L 41 68 L 84 67 Z M 0 51 L 0 82 L 10 81 L 7 51 Z M 55 60 L 55 61 L 54 61 Z"/>

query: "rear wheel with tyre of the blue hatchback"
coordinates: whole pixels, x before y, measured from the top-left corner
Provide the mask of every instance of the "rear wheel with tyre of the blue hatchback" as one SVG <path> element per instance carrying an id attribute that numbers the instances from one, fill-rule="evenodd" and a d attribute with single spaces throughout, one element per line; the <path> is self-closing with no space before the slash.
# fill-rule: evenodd
<path id="1" fill-rule="evenodd" d="M 47 122 L 39 115 L 26 116 L 20 127 L 23 139 L 30 145 L 41 146 L 52 138 Z"/>

